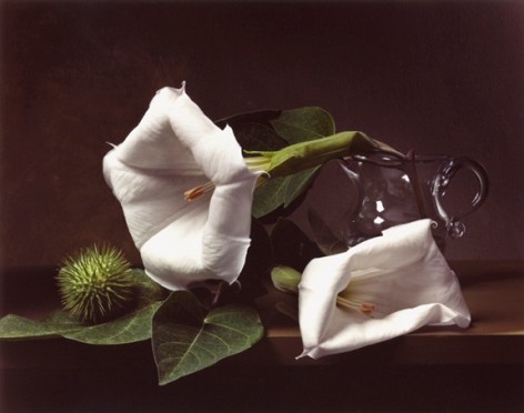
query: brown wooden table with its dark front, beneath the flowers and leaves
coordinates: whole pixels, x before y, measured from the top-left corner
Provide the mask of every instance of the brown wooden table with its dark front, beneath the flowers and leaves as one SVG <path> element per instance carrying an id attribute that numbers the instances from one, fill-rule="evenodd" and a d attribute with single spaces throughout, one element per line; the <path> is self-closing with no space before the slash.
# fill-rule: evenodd
<path id="1" fill-rule="evenodd" d="M 259 301 L 266 336 L 249 351 L 159 386 L 149 341 L 97 346 L 52 339 L 0 343 L 2 412 L 329 412 L 524 409 L 522 262 L 453 262 L 470 329 L 425 328 L 320 360 L 296 323 Z M 53 269 L 2 272 L 1 315 L 58 308 Z"/>

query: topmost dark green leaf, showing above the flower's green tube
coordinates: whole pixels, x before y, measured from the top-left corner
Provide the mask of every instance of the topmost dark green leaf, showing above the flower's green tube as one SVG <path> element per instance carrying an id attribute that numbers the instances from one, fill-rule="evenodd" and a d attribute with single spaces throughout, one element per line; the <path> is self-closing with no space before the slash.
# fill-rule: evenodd
<path id="1" fill-rule="evenodd" d="M 289 143 L 299 143 L 335 133 L 335 124 L 329 112 L 318 107 L 284 110 L 271 121 L 276 133 Z"/>

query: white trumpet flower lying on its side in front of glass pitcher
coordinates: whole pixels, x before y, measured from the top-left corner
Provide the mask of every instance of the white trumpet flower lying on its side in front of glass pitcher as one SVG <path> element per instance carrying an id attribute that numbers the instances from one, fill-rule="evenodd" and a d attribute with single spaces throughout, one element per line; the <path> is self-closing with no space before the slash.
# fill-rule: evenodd
<path id="1" fill-rule="evenodd" d="M 346 352 L 430 324 L 470 325 L 458 281 L 431 224 L 426 219 L 393 226 L 308 264 L 299 286 L 301 356 Z"/>

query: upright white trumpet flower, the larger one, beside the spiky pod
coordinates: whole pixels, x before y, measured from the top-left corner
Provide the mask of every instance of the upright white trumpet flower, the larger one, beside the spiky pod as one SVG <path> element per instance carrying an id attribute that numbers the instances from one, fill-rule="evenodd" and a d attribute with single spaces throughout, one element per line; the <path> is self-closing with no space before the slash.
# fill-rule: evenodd
<path id="1" fill-rule="evenodd" d="M 180 290 L 238 279 L 258 174 L 231 128 L 205 117 L 184 84 L 157 92 L 138 127 L 104 157 L 103 173 L 154 281 Z"/>

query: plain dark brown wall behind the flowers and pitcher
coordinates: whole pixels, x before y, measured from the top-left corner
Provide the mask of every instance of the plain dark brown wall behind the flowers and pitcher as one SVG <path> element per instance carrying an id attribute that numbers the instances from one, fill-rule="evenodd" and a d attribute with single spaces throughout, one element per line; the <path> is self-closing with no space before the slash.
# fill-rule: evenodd
<path id="1" fill-rule="evenodd" d="M 213 119 L 321 105 L 339 130 L 475 158 L 490 199 L 447 256 L 524 256 L 523 2 L 2 2 L 1 27 L 3 266 L 100 241 L 138 262 L 101 160 L 182 80 Z"/>

